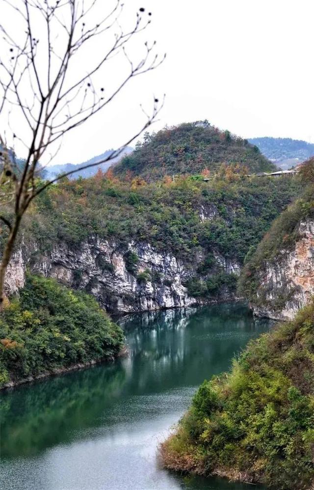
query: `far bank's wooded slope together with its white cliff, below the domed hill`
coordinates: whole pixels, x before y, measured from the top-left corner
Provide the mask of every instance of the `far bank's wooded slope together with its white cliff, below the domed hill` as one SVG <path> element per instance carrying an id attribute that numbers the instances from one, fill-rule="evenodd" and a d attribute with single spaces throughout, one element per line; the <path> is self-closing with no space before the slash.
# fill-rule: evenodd
<path id="1" fill-rule="evenodd" d="M 64 179 L 29 209 L 12 275 L 48 271 L 110 311 L 230 299 L 246 255 L 299 194 L 298 177 Z"/>

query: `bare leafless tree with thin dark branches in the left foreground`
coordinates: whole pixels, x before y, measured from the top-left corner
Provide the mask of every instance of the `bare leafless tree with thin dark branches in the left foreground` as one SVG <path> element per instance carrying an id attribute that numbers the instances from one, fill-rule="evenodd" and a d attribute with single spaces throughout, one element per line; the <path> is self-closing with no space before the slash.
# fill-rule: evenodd
<path id="1" fill-rule="evenodd" d="M 2 14 L 9 15 L 11 9 L 16 21 L 5 22 L 1 14 L 0 220 L 8 230 L 0 265 L 1 303 L 5 273 L 29 204 L 52 183 L 75 173 L 43 182 L 38 178 L 41 159 L 49 155 L 51 161 L 68 132 L 105 109 L 131 79 L 154 70 L 164 59 L 155 54 L 156 42 L 143 43 L 139 59 L 133 59 L 138 54 L 133 39 L 149 26 L 151 13 L 139 8 L 132 25 L 122 28 L 124 5 L 113 2 L 104 15 L 103 0 L 0 0 Z M 126 68 L 122 76 L 112 71 L 117 58 Z M 119 156 L 156 119 L 162 104 L 154 97 L 151 113 L 142 109 L 145 123 L 140 130 L 119 150 L 83 168 Z M 26 147 L 22 163 L 15 157 L 17 143 Z"/>

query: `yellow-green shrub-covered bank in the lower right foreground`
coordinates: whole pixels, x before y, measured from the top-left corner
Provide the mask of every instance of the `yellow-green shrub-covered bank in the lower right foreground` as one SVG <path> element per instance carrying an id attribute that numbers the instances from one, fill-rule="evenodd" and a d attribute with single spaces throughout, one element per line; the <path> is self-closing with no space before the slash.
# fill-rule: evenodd
<path id="1" fill-rule="evenodd" d="M 167 468 L 276 490 L 314 484 L 314 303 L 252 341 L 230 373 L 204 381 L 174 435 Z"/>

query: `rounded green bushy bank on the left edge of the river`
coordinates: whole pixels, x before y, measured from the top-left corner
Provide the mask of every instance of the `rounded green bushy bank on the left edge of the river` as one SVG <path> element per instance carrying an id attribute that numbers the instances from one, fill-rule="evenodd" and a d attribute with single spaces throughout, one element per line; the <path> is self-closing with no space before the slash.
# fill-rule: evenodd
<path id="1" fill-rule="evenodd" d="M 59 368 L 116 356 L 124 342 L 95 299 L 27 276 L 0 317 L 0 386 Z"/>

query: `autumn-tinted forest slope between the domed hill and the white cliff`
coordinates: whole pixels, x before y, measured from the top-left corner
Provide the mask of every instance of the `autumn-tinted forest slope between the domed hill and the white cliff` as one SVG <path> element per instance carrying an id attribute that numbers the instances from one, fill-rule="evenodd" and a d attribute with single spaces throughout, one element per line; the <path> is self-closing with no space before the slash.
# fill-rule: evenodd
<path id="1" fill-rule="evenodd" d="M 24 242 L 28 246 L 36 241 L 37 253 L 57 243 L 75 248 L 93 235 L 113 241 L 122 251 L 130 240 L 148 242 L 193 270 L 195 257 L 203 257 L 195 275 L 204 280 L 187 283 L 192 295 L 235 289 L 235 277 L 224 274 L 217 254 L 242 264 L 271 221 L 298 195 L 300 182 L 230 172 L 227 177 L 209 182 L 200 176 L 178 177 L 175 183 L 166 178 L 147 184 L 143 179 L 120 181 L 109 171 L 91 179 L 65 180 L 42 193 L 30 209 Z M 135 273 L 136 257 L 124 253 L 129 272 Z"/>

